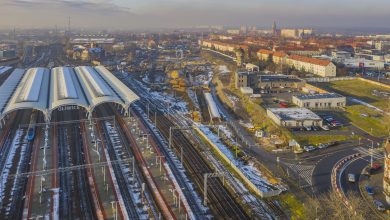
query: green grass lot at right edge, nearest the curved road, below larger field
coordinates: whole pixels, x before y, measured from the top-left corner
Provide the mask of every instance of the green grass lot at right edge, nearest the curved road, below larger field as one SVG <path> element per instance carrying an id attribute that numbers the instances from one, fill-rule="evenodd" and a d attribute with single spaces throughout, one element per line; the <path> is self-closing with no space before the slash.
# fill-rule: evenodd
<path id="1" fill-rule="evenodd" d="M 362 114 L 367 116 L 362 116 Z M 345 116 L 355 126 L 376 137 L 382 137 L 389 134 L 390 116 L 388 115 L 382 115 L 366 106 L 353 105 L 346 107 Z"/>

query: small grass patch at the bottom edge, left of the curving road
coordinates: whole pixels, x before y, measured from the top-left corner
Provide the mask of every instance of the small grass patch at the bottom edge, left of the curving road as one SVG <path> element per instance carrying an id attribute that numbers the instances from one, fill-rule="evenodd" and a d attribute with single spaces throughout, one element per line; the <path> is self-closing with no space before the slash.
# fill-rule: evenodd
<path id="1" fill-rule="evenodd" d="M 284 193 L 279 196 L 281 205 L 290 211 L 291 219 L 305 219 L 303 203 L 292 193 Z"/>

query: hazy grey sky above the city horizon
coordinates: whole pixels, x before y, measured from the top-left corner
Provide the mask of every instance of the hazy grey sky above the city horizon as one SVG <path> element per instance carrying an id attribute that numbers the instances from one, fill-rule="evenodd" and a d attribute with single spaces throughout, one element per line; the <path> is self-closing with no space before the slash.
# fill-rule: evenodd
<path id="1" fill-rule="evenodd" d="M 0 28 L 390 28 L 390 0 L 0 0 Z"/>

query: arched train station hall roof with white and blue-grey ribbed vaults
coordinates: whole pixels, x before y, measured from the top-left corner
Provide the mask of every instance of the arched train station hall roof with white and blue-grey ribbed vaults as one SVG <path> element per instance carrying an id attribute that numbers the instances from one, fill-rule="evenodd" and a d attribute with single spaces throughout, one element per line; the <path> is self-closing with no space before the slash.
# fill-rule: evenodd
<path id="1" fill-rule="evenodd" d="M 76 106 L 88 117 L 103 103 L 123 107 L 138 96 L 103 66 L 15 69 L 0 86 L 0 119 L 20 109 L 35 109 L 50 121 L 54 110 Z"/>

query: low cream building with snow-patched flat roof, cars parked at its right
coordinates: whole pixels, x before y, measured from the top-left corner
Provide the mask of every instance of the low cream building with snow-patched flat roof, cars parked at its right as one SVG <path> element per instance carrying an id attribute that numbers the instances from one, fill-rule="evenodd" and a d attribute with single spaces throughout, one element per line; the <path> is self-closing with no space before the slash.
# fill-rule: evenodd
<path id="1" fill-rule="evenodd" d="M 322 126 L 322 119 L 307 108 L 268 108 L 267 116 L 288 128 Z"/>

